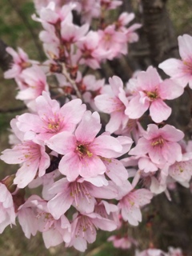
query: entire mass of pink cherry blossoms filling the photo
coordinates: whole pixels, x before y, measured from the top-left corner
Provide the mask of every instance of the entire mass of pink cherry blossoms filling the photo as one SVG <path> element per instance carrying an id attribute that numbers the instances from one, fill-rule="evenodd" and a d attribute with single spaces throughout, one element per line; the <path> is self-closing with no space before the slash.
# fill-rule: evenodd
<path id="1" fill-rule="evenodd" d="M 127 27 L 134 14 L 122 13 L 106 22 L 106 12 L 121 4 L 35 1 L 38 16 L 33 18 L 42 23 L 39 38 L 47 60 L 30 60 L 21 48 L 6 49 L 13 63 L 5 78 L 15 79 L 16 98 L 29 113 L 10 122 L 12 147 L 0 156 L 19 165 L 16 174 L 0 182 L 0 233 L 18 219 L 26 238 L 42 232 L 46 248 L 65 242 L 85 251 L 98 229 L 138 226 L 142 207 L 154 195 L 165 192 L 171 199 L 173 184 L 190 186 L 192 142 L 166 124 L 172 110 L 165 101 L 180 97 L 188 83 L 192 88 L 192 38 L 178 38 L 182 60 L 159 65 L 170 75 L 166 80 L 153 66 L 126 84 L 115 75 L 109 81 L 98 78 L 93 70 L 127 54 L 127 43 L 138 40 L 135 30 L 141 25 Z M 82 14 L 80 24 L 74 14 Z M 92 72 L 86 74 L 86 69 Z M 26 187 L 38 186 L 41 196 L 27 198 Z M 109 241 L 123 249 L 138 247 L 127 234 Z M 147 249 L 135 255 L 174 256 L 182 251 L 170 247 L 168 253 Z"/>

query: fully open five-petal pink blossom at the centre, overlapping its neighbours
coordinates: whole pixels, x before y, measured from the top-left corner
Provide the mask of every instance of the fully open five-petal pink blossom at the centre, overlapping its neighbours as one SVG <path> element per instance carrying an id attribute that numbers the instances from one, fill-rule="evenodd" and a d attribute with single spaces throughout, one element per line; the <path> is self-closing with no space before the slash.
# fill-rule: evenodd
<path id="1" fill-rule="evenodd" d="M 106 166 L 102 158 L 115 158 L 122 152 L 118 139 L 108 134 L 95 138 L 100 129 L 98 113 L 91 114 L 86 111 L 74 134 L 62 132 L 46 142 L 50 149 L 64 155 L 58 170 L 66 175 L 70 182 L 78 178 L 78 175 L 90 178 L 104 174 Z"/>

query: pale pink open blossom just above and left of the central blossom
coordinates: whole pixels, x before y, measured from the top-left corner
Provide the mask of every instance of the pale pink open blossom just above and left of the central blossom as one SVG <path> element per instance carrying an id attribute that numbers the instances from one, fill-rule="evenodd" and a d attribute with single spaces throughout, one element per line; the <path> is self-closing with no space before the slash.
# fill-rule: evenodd
<path id="1" fill-rule="evenodd" d="M 37 114 L 22 114 L 18 117 L 17 126 L 23 132 L 34 131 L 37 138 L 46 140 L 62 131 L 72 133 L 86 111 L 80 99 L 67 102 L 61 108 L 46 92 L 36 100 Z"/>

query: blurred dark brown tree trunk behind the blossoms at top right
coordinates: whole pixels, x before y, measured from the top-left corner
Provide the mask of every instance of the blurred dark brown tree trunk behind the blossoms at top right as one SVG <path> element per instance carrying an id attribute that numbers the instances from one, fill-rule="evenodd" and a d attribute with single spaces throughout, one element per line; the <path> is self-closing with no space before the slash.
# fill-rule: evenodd
<path id="1" fill-rule="evenodd" d="M 142 0 L 143 30 L 154 66 L 166 58 L 176 57 L 177 42 L 166 11 L 167 0 Z M 175 51 L 176 48 L 176 51 Z"/>

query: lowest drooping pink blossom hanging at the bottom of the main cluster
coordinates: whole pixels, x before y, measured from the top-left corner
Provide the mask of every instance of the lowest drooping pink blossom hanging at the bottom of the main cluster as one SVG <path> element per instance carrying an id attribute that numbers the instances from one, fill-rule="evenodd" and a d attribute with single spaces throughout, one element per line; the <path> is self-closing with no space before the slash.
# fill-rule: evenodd
<path id="1" fill-rule="evenodd" d="M 99 214 L 78 214 L 74 216 L 71 223 L 71 241 L 66 243 L 67 247 L 74 246 L 75 249 L 85 251 L 87 242 L 92 243 L 96 239 L 96 229 L 112 231 L 116 229 L 116 224 L 102 218 Z"/>

